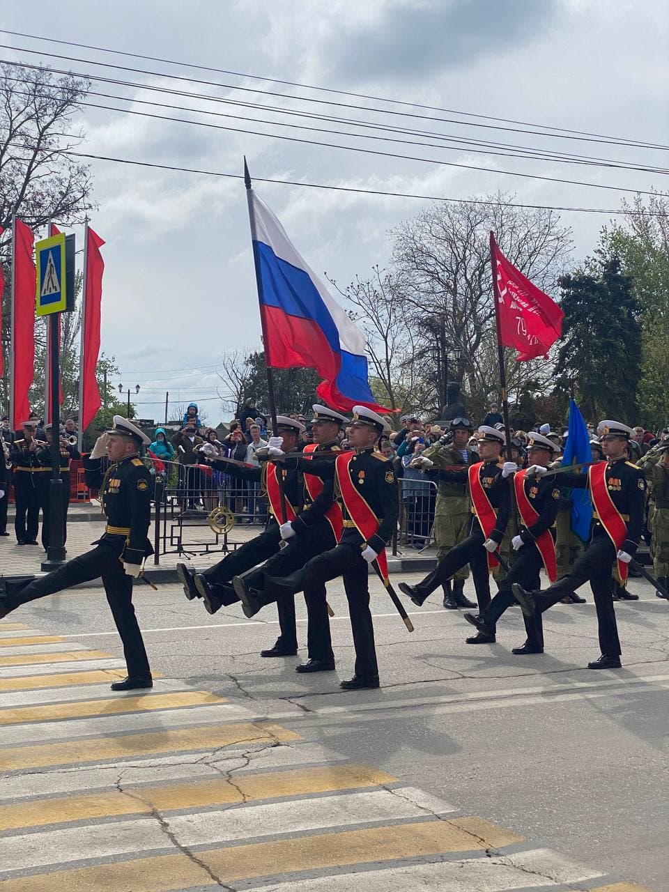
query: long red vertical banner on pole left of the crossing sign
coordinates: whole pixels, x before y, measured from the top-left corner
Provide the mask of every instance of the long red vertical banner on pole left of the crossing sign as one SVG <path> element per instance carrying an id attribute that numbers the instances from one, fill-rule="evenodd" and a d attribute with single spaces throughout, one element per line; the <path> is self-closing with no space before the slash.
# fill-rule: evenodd
<path id="1" fill-rule="evenodd" d="M 14 220 L 13 232 L 13 368 L 12 426 L 21 427 L 30 412 L 28 392 L 35 374 L 35 287 L 36 272 L 32 260 L 35 236 L 32 230 Z"/>

